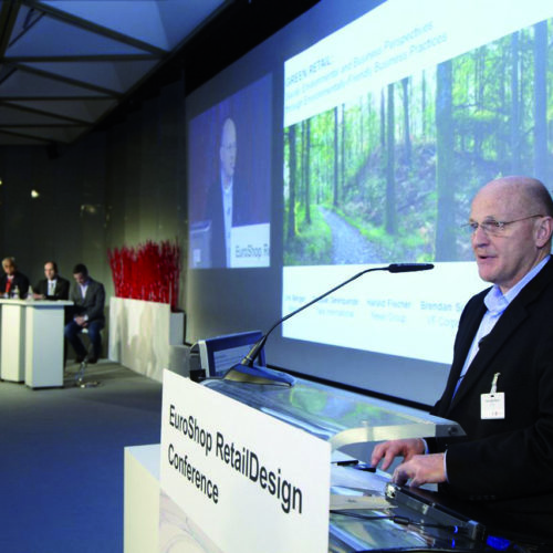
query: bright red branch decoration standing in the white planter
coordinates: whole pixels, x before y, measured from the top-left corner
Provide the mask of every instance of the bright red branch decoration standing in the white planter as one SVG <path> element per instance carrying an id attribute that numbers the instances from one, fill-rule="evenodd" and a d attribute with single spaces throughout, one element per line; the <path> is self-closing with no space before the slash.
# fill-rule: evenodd
<path id="1" fill-rule="evenodd" d="M 136 248 L 107 250 L 117 298 L 168 303 L 177 311 L 180 284 L 178 241 L 147 241 Z"/>

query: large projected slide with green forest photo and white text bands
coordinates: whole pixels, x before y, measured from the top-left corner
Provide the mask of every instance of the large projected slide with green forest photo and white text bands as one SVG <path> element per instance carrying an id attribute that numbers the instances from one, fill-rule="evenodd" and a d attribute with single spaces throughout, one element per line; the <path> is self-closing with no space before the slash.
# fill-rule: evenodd
<path id="1" fill-rule="evenodd" d="M 473 195 L 553 180 L 553 3 L 508 6 L 389 0 L 286 61 L 283 314 L 367 265 L 436 269 L 366 275 L 285 337 L 450 362 L 488 285 L 461 229 Z"/>

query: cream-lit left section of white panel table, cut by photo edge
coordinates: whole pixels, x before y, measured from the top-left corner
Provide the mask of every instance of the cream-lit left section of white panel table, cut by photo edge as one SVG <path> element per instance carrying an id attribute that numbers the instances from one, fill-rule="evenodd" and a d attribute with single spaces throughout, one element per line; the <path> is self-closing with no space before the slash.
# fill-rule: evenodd
<path id="1" fill-rule="evenodd" d="M 23 382 L 25 379 L 25 312 L 24 302 L 0 300 L 2 309 L 2 344 L 0 367 L 4 380 Z"/>

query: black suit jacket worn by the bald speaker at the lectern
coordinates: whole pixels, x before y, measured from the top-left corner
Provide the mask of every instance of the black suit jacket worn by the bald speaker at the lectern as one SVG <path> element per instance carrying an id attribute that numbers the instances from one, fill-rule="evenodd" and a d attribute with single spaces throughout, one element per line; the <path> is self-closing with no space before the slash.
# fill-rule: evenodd
<path id="1" fill-rule="evenodd" d="M 430 441 L 430 449 L 447 449 L 442 490 L 479 502 L 501 524 L 553 536 L 553 260 L 483 340 L 451 400 L 487 292 L 461 314 L 446 390 L 432 409 L 458 421 L 467 437 Z M 482 420 L 480 396 L 490 393 L 495 373 L 505 418 Z"/>

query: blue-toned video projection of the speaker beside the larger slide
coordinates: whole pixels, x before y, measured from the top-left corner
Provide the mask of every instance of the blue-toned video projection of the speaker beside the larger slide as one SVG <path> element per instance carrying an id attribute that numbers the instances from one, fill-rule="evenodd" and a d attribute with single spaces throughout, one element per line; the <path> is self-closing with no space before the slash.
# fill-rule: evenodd
<path id="1" fill-rule="evenodd" d="M 265 76 L 189 123 L 191 268 L 270 264 L 271 86 Z"/>

